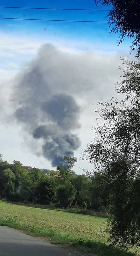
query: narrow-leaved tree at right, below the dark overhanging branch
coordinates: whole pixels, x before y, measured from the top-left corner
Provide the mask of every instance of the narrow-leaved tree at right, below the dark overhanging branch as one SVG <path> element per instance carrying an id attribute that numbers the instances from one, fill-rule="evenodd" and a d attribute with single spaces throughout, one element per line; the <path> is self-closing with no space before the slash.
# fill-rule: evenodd
<path id="1" fill-rule="evenodd" d="M 113 245 L 140 246 L 140 61 L 123 60 L 123 81 L 116 88 L 123 100 L 99 103 L 102 125 L 85 157 L 108 181 L 111 218 L 108 232 Z"/>

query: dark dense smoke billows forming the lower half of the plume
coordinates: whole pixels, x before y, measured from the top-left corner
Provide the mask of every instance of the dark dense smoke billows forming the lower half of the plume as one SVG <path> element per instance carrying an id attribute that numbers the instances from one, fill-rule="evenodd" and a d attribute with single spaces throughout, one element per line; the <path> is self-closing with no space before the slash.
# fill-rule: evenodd
<path id="1" fill-rule="evenodd" d="M 33 138 L 43 138 L 43 156 L 52 166 L 62 164 L 64 156 L 74 156 L 81 141 L 71 130 L 80 128 L 80 108 L 74 98 L 66 94 L 53 95 L 42 104 L 42 111 L 52 124 L 40 125 L 33 131 Z"/>

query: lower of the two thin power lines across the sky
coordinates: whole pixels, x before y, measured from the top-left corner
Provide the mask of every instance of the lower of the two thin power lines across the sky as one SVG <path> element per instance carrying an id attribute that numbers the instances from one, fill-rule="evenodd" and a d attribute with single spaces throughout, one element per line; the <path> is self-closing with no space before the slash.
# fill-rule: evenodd
<path id="1" fill-rule="evenodd" d="M 52 20 L 52 19 L 26 19 L 26 18 L 7 18 L 0 17 L 3 20 L 41 20 L 41 21 L 64 21 L 64 22 L 89 22 L 89 23 L 111 23 L 108 21 L 94 21 L 94 20 Z"/>

